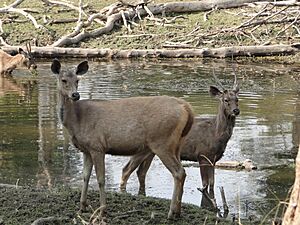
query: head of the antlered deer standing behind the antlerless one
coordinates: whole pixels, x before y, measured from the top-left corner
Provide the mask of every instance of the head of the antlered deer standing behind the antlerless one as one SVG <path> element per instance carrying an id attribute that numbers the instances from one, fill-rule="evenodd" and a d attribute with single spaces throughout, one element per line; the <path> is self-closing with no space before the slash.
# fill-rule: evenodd
<path id="1" fill-rule="evenodd" d="M 234 74 L 235 75 L 235 74 Z M 223 88 L 224 89 L 224 88 Z M 236 117 L 240 114 L 239 109 L 239 84 L 237 83 L 237 78 L 235 75 L 234 85 L 232 90 L 220 91 L 215 86 L 210 86 L 209 93 L 213 97 L 217 97 L 220 100 L 220 104 L 224 109 L 226 117 Z"/>

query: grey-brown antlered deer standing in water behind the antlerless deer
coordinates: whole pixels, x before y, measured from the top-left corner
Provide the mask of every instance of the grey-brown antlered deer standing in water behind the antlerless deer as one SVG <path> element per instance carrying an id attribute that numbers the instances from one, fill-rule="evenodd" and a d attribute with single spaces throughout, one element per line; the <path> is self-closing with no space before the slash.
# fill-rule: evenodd
<path id="1" fill-rule="evenodd" d="M 235 126 L 236 116 L 240 113 L 238 92 L 236 75 L 232 90 L 223 88 L 223 91 L 220 91 L 217 87 L 210 86 L 210 95 L 219 99 L 218 113 L 212 118 L 195 118 L 182 144 L 181 160 L 199 162 L 204 196 L 209 197 L 210 202 L 214 200 L 215 163 L 223 156 Z M 139 194 L 145 195 L 145 177 L 153 157 L 154 154 L 151 154 L 141 162 L 139 156 L 132 156 L 123 168 L 120 189 L 126 190 L 129 176 L 139 167 L 137 170 Z M 213 206 L 216 207 L 214 202 Z"/>

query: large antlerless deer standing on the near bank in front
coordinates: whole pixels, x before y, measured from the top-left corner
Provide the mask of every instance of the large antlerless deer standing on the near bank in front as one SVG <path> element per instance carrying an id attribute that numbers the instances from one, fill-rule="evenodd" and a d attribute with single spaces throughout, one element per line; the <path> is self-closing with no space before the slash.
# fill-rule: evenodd
<path id="1" fill-rule="evenodd" d="M 105 154 L 135 155 L 142 161 L 155 154 L 174 178 L 168 218 L 180 216 L 186 174 L 179 148 L 193 123 L 191 106 L 182 99 L 168 96 L 79 100 L 78 75 L 88 71 L 88 62 L 81 62 L 71 71 L 61 70 L 60 62 L 55 59 L 51 70 L 58 78 L 60 119 L 74 146 L 83 152 L 81 210 L 87 206 L 93 165 L 100 189 L 100 214 L 106 208 Z"/>

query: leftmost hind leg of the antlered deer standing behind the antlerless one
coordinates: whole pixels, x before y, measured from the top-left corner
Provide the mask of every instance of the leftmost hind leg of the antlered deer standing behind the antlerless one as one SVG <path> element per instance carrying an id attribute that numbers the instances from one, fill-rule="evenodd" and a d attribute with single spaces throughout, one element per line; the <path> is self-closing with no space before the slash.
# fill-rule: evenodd
<path id="1" fill-rule="evenodd" d="M 121 177 L 121 183 L 120 183 L 120 189 L 121 191 L 126 190 L 127 181 L 132 174 L 132 172 L 149 156 L 152 155 L 152 152 L 139 152 L 133 156 L 131 156 L 128 163 L 125 165 L 125 167 L 122 170 L 122 177 Z"/>

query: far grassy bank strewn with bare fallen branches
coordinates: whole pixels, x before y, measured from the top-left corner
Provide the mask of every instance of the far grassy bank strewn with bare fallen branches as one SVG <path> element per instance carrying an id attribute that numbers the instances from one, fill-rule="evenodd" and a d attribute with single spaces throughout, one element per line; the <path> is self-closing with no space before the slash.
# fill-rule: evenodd
<path id="1" fill-rule="evenodd" d="M 13 0 L 10 0 L 8 4 L 12 2 Z M 284 5 L 245 4 L 238 8 L 213 8 L 210 11 L 197 11 L 187 7 L 182 12 L 177 12 L 175 8 L 179 5 L 172 5 L 175 7 L 172 11 L 169 4 L 171 9 L 168 12 L 157 13 L 153 17 L 145 14 L 139 19 L 130 7 L 116 8 L 114 0 L 93 0 L 87 4 L 83 1 L 84 13 L 80 15 L 85 25 L 81 26 L 78 22 L 77 1 L 70 1 L 70 5 L 49 2 L 51 1 L 46 4 L 41 0 L 24 0 L 18 6 L 27 9 L 36 19 L 38 26 L 20 14 L 3 14 L 3 39 L 12 46 L 24 45 L 31 41 L 32 45 L 40 48 L 73 47 L 99 51 L 111 49 L 111 52 L 104 52 L 104 56 L 99 53 L 97 57 L 272 56 L 271 59 L 275 61 L 299 63 L 299 30 L 293 26 L 298 22 L 298 17 L 293 17 L 297 12 L 294 10 L 297 5 L 284 8 Z M 153 1 L 149 7 L 154 10 L 159 8 L 159 4 L 168 2 L 170 1 Z M 187 0 L 177 3 L 180 2 L 195 4 Z M 117 19 L 107 12 L 110 10 L 115 10 L 112 13 L 118 14 Z M 98 21 L 89 22 L 97 13 L 101 14 L 98 15 Z M 285 14 L 291 18 L 284 17 Z M 281 45 L 285 48 L 282 49 Z M 195 49 L 201 53 L 194 54 Z M 52 54 L 44 52 L 49 49 L 33 50 L 37 52 L 37 57 L 66 56 L 66 52 L 56 49 L 52 49 Z M 143 50 L 150 50 L 150 53 Z M 117 54 L 118 51 L 123 52 Z M 68 53 L 69 57 L 78 57 L 77 55 L 73 50 Z M 90 57 L 91 54 L 83 55 Z M 273 58 L 274 56 L 279 58 Z"/>

